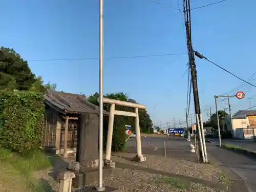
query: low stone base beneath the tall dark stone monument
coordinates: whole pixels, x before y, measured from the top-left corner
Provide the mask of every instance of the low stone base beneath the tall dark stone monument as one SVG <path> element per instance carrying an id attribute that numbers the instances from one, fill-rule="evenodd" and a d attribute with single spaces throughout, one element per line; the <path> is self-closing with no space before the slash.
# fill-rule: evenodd
<path id="1" fill-rule="evenodd" d="M 82 170 L 80 172 L 74 172 L 75 178 L 72 179 L 73 187 L 82 187 L 87 185 L 88 183 L 98 181 L 98 169 L 92 170 Z M 113 174 L 113 168 L 111 167 L 103 167 L 103 179 L 107 177 L 111 177 Z"/>

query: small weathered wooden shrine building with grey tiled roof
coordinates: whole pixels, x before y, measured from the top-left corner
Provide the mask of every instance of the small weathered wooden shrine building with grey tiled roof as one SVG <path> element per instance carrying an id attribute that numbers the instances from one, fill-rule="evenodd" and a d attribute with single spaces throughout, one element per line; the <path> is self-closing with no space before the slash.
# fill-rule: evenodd
<path id="1" fill-rule="evenodd" d="M 67 153 L 76 150 L 78 117 L 81 113 L 91 114 L 94 121 L 90 129 L 98 129 L 98 106 L 88 102 L 85 95 L 49 91 L 45 95 L 46 113 L 42 147 L 63 153 L 65 134 L 67 134 Z M 104 111 L 104 114 L 107 112 Z M 65 133 L 65 126 L 68 132 Z"/>

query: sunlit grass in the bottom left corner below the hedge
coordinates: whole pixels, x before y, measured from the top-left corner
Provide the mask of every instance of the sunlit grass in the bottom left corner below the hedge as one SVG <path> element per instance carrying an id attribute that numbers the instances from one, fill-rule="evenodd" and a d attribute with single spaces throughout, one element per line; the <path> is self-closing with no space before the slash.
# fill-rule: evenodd
<path id="1" fill-rule="evenodd" d="M 6 186 L 4 190 L 0 188 L 0 191 L 45 192 L 44 187 L 31 176 L 37 170 L 51 167 L 51 161 L 44 152 L 36 151 L 23 157 L 0 148 L 0 164 L 0 184 Z"/>

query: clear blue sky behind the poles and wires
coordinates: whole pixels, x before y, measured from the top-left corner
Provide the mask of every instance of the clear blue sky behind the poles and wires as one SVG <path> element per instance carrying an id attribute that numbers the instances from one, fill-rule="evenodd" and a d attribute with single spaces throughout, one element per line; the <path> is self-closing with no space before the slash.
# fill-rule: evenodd
<path id="1" fill-rule="evenodd" d="M 156 2 L 160 3 L 157 4 Z M 186 108 L 187 50 L 177 1 L 111 0 L 104 3 L 104 93 L 124 92 L 145 104 L 156 124 L 184 119 Z M 214 0 L 191 1 L 191 8 Z M 182 1 L 179 0 L 180 8 Z M 193 46 L 207 58 L 247 79 L 255 70 L 256 2 L 228 0 L 191 11 Z M 99 1 L 1 1 L 2 46 L 14 48 L 36 75 L 57 89 L 89 96 L 98 91 L 97 58 Z M 182 15 L 183 17 L 183 15 Z M 108 59 L 140 55 L 178 55 Z M 207 107 L 215 111 L 214 95 L 238 90 L 246 98 L 255 88 L 205 60 L 196 60 L 199 97 L 204 119 Z M 254 82 L 254 75 L 250 81 Z M 253 81 L 254 80 L 254 81 Z M 254 82 L 255 83 L 255 82 Z M 173 89 L 170 90 L 175 85 Z M 166 93 L 169 93 L 166 95 Z M 232 110 L 250 106 L 248 99 L 230 99 Z M 251 100 L 252 104 L 256 101 Z M 193 103 L 193 97 L 191 99 Z M 220 109 L 227 106 L 219 102 Z M 157 105 L 158 104 L 158 105 Z M 157 106 L 156 106 L 157 105 Z M 194 107 L 191 104 L 190 112 Z"/>

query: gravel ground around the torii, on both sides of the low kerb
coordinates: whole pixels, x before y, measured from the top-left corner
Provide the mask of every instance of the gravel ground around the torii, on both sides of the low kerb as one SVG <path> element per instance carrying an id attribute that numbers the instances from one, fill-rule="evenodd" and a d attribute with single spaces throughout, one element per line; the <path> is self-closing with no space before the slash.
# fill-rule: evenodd
<path id="1" fill-rule="evenodd" d="M 168 173 L 181 174 L 197 178 L 204 178 L 210 181 L 224 181 L 221 178 L 220 170 L 214 165 L 197 164 L 188 161 L 178 161 L 171 158 L 164 158 L 159 156 L 148 155 L 146 162 L 137 163 L 127 160 L 134 157 L 135 154 L 117 153 L 112 156 L 113 161 L 132 164 L 157 170 L 162 170 Z M 126 159 L 125 159 L 126 158 Z M 42 185 L 45 186 L 46 191 L 51 191 L 53 188 L 58 191 L 59 184 L 50 176 L 52 171 L 41 170 L 34 173 Z M 198 183 L 184 183 L 181 180 L 173 180 L 174 178 L 147 173 L 136 169 L 123 169 L 116 167 L 113 177 L 104 180 L 104 186 L 118 188 L 115 192 L 125 191 L 164 191 L 164 192 L 226 192 L 223 190 L 212 189 Z M 90 183 L 89 186 L 96 186 L 97 183 Z M 53 191 L 54 191 L 53 190 Z M 73 188 L 74 191 L 79 191 Z M 80 190 L 81 191 L 81 190 Z"/>

